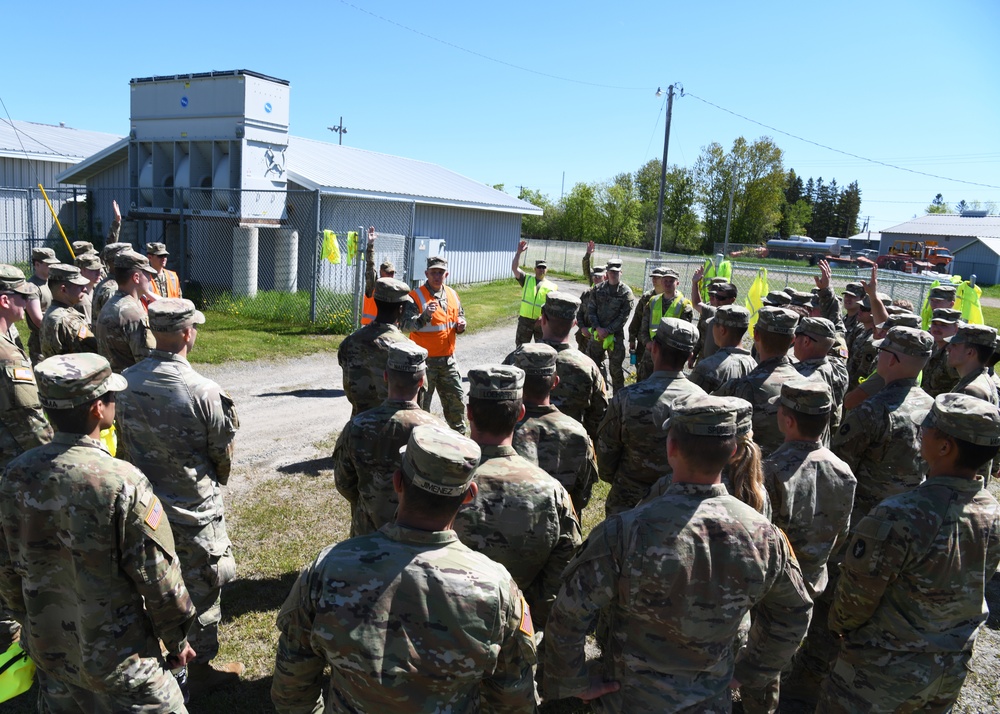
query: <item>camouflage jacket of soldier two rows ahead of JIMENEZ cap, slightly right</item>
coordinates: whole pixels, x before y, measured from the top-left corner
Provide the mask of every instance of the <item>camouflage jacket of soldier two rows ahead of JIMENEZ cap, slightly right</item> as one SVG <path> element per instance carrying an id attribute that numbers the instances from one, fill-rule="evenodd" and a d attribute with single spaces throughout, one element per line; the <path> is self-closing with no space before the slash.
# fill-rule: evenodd
<path id="1" fill-rule="evenodd" d="M 587 430 L 558 407 L 524 406 L 524 419 L 514 429 L 514 449 L 565 486 L 573 508 L 582 513 L 597 480 L 597 456 Z"/>

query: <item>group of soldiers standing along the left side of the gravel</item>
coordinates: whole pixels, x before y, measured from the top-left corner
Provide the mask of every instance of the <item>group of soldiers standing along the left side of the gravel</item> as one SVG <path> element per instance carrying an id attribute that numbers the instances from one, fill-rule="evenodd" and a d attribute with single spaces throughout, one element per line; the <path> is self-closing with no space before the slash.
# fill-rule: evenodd
<path id="1" fill-rule="evenodd" d="M 187 360 L 205 317 L 165 246 L 115 214 L 100 255 L 0 265 L 0 653 L 35 663 L 39 711 L 183 712 L 244 669 L 213 661 L 239 419 Z"/>

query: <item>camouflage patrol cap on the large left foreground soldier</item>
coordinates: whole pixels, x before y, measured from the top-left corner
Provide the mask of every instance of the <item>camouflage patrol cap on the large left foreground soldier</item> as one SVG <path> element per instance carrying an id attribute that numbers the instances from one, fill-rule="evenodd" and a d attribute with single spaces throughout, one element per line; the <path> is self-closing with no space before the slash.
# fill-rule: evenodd
<path id="1" fill-rule="evenodd" d="M 106 359 L 92 352 L 49 357 L 35 367 L 35 377 L 39 401 L 48 409 L 72 409 L 128 387 Z"/>

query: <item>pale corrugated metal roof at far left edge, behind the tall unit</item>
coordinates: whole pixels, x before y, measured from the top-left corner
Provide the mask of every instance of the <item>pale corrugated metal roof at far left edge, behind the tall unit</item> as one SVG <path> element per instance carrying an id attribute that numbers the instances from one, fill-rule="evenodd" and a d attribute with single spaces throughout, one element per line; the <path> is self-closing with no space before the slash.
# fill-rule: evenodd
<path id="1" fill-rule="evenodd" d="M 0 156 L 11 158 L 75 164 L 120 139 L 99 131 L 0 119 Z"/>

